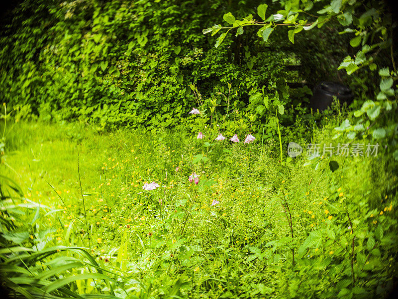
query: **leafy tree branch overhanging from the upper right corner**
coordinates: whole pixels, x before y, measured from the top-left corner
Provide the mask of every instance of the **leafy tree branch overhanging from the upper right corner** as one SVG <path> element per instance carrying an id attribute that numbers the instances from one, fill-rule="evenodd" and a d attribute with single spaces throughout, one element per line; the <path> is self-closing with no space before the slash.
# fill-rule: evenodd
<path id="1" fill-rule="evenodd" d="M 257 35 L 267 42 L 280 27 L 280 30 L 287 28 L 288 39 L 295 43 L 295 35 L 302 30 L 338 22 L 342 27 L 339 34 L 352 35 L 350 46 L 358 49 L 355 55 L 346 56 L 338 69 L 344 69 L 347 75 L 351 75 L 368 68 L 370 73 L 378 73 L 380 84 L 374 91 L 374 97 L 364 99 L 361 108 L 354 112 L 352 122 L 345 120 L 336 128 L 335 138 L 345 133 L 349 139 L 369 136 L 384 140 L 392 146 L 391 152 L 394 151 L 393 155 L 398 159 L 398 92 L 395 84 L 398 72 L 393 48 L 393 30 L 397 24 L 393 21 L 392 10 L 381 0 L 286 0 L 280 3 L 281 9 L 272 13 L 267 13 L 267 4 L 259 5 L 258 17 L 249 14 L 239 20 L 231 12 L 225 13 L 223 19 L 229 26 L 216 24 L 204 29 L 203 33 L 221 33 L 215 43 L 218 47 L 230 31 L 239 36 L 248 26 L 257 26 Z"/>

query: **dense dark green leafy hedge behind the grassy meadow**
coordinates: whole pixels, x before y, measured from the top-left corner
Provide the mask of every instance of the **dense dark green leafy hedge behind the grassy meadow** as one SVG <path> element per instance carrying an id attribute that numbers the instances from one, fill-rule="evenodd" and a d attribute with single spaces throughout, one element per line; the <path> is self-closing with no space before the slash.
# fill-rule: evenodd
<path id="1" fill-rule="evenodd" d="M 265 44 L 252 30 L 215 48 L 215 37 L 202 34 L 224 12 L 255 14 L 261 2 L 25 0 L 2 32 L 0 97 L 30 104 L 42 118 L 79 118 L 102 129 L 169 127 L 190 124 L 188 112 L 197 106 L 190 83 L 203 98 L 217 97 L 223 113 L 217 92 L 230 82 L 237 107 L 267 121 L 251 95 L 263 89 L 289 109 L 298 103 L 281 92 L 285 79 L 318 80 L 331 64 L 323 57 L 330 47 L 308 35 L 293 53 L 285 36 Z M 284 66 L 299 61 L 305 67 L 292 77 Z"/>

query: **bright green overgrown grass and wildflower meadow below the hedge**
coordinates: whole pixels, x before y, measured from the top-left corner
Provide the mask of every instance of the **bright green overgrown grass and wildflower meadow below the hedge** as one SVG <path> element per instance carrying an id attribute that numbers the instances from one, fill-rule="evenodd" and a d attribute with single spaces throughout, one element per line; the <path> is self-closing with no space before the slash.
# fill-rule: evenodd
<path id="1" fill-rule="evenodd" d="M 317 143 L 330 141 L 331 127 L 315 132 Z M 28 240 L 2 244 L 89 248 L 109 281 L 65 285 L 76 294 L 372 298 L 393 288 L 397 175 L 383 151 L 336 157 L 332 172 L 329 158 L 280 163 L 275 142 L 204 145 L 161 130 L 99 134 L 83 124 L 18 123 L 6 137 L 1 174 L 22 187 L 21 203 L 47 209 L 40 217 L 23 205 L 24 215 L 2 212 L 4 221 L 34 220 L 25 223 Z M 188 181 L 193 171 L 198 185 Z M 161 187 L 144 191 L 151 181 Z M 53 231 L 40 234 L 46 229 Z M 35 266 L 61 254 L 77 256 L 61 250 Z M 50 278 L 88 273 L 90 265 Z"/>

